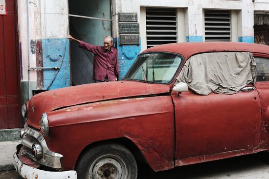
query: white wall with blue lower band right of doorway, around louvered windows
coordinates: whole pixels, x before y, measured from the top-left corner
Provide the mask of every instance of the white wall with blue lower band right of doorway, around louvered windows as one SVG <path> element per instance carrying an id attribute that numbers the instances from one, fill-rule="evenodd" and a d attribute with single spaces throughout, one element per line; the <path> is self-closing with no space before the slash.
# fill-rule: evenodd
<path id="1" fill-rule="evenodd" d="M 113 37 L 118 37 L 118 12 L 135 12 L 140 23 L 142 44 L 140 43 L 138 46 L 118 45 L 121 78 L 132 65 L 133 58 L 136 58 L 141 52 L 139 50 L 146 48 L 146 31 L 142 26 L 145 26 L 145 7 L 173 7 L 179 9 L 178 16 L 183 16 L 178 17 L 181 20 L 179 23 L 184 26 L 183 30 L 178 30 L 179 42 L 204 40 L 203 11 L 205 9 L 230 10 L 231 40 L 253 43 L 253 13 L 254 11 L 269 11 L 269 0 L 255 0 L 254 2 L 252 0 L 112 0 Z"/>

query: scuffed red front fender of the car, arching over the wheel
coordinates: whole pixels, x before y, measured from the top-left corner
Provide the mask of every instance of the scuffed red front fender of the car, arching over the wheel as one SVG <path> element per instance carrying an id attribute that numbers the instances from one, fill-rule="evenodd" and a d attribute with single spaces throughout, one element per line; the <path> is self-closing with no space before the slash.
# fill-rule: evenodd
<path id="1" fill-rule="evenodd" d="M 165 104 L 165 105 L 164 105 Z M 91 143 L 127 138 L 134 142 L 155 171 L 174 167 L 174 107 L 170 96 L 117 99 L 72 106 L 47 113 L 50 150 L 74 169 L 80 153 Z"/>

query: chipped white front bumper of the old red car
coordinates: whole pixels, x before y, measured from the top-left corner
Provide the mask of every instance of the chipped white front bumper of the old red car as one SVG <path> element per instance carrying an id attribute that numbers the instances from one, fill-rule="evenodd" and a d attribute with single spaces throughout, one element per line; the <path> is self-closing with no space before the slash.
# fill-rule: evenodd
<path id="1" fill-rule="evenodd" d="M 13 165 L 23 179 L 77 179 L 77 172 L 74 170 L 49 172 L 30 167 L 22 163 L 17 156 L 17 152 L 13 155 Z"/>

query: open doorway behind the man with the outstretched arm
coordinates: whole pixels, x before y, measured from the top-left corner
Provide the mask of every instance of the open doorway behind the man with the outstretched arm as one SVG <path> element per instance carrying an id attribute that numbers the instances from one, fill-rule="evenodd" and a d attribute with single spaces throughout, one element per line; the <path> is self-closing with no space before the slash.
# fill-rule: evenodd
<path id="1" fill-rule="evenodd" d="M 93 45 L 103 45 L 111 36 L 110 0 L 68 0 L 70 35 Z M 72 85 L 92 83 L 93 54 L 70 43 Z"/>

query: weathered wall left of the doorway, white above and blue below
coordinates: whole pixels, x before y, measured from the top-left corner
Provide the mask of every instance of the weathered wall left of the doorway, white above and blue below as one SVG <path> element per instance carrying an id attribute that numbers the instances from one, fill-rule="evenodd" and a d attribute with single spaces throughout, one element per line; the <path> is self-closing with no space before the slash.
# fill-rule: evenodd
<path id="1" fill-rule="evenodd" d="M 22 92 L 28 91 L 28 59 L 30 68 L 53 68 L 59 66 L 57 63 L 64 61 L 55 80 L 52 76 L 56 75 L 56 70 L 38 70 L 38 73 L 37 70 L 30 70 L 31 90 L 46 90 L 52 81 L 50 89 L 69 86 L 67 0 L 19 0 L 18 21 Z M 65 52 L 62 53 L 63 51 Z M 57 62 L 50 60 L 57 58 Z M 66 74 L 65 77 L 61 76 L 63 73 Z M 28 93 L 22 93 L 22 98 L 22 102 L 28 99 Z"/>

